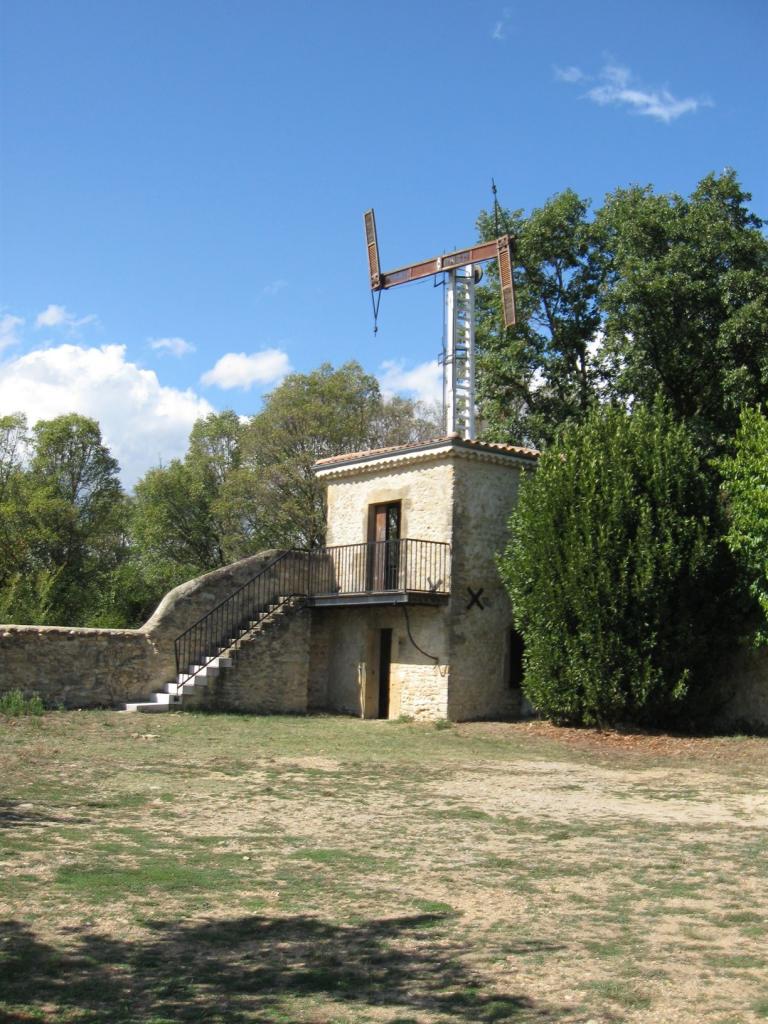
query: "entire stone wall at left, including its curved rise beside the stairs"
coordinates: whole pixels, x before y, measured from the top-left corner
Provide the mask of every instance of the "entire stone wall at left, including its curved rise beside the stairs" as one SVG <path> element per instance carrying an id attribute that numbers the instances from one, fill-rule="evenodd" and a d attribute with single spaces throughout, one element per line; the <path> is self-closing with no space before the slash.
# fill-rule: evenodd
<path id="1" fill-rule="evenodd" d="M 0 626 L 0 693 L 39 693 L 47 705 L 63 708 L 146 699 L 175 678 L 176 637 L 280 554 L 262 551 L 181 584 L 138 630 Z M 305 567 L 300 555 L 288 555 L 281 561 L 280 586 L 295 575 L 300 589 Z"/>

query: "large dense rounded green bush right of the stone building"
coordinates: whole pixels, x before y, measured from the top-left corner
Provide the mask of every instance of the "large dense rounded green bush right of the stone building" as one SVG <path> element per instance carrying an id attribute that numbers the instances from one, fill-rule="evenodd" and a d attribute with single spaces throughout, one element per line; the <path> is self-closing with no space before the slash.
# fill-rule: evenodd
<path id="1" fill-rule="evenodd" d="M 501 558 L 542 714 L 663 725 L 686 707 L 717 642 L 714 492 L 660 403 L 598 407 L 543 455 Z"/>

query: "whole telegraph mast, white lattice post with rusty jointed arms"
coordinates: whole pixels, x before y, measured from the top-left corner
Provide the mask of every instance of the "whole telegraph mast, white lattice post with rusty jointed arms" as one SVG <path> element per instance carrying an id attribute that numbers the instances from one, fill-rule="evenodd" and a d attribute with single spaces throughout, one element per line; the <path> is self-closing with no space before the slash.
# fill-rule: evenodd
<path id="1" fill-rule="evenodd" d="M 365 215 L 368 266 L 374 314 L 378 314 L 381 292 L 412 281 L 444 273 L 445 338 L 442 352 L 442 408 L 445 433 L 475 437 L 475 283 L 480 280 L 478 264 L 488 259 L 499 261 L 504 326 L 515 323 L 515 292 L 512 281 L 512 239 L 502 234 L 468 249 L 434 256 L 431 259 L 382 272 L 374 211 Z"/>

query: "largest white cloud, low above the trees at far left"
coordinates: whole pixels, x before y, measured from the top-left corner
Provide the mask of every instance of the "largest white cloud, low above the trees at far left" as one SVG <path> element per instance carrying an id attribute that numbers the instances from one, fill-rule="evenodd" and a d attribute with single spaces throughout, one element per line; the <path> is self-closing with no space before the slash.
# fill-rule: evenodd
<path id="1" fill-rule="evenodd" d="M 186 451 L 193 424 L 213 407 L 191 390 L 166 387 L 125 358 L 125 345 L 58 345 L 11 359 L 0 373 L 0 411 L 30 423 L 66 413 L 98 420 L 130 486 L 150 467 Z"/>

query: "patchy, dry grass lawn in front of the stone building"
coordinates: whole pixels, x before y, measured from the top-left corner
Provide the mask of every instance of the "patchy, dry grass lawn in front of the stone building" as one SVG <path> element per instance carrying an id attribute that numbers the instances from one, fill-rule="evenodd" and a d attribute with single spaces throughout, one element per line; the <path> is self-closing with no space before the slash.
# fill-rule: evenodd
<path id="1" fill-rule="evenodd" d="M 0 1021 L 768 1020 L 768 740 L 0 719 Z"/>

